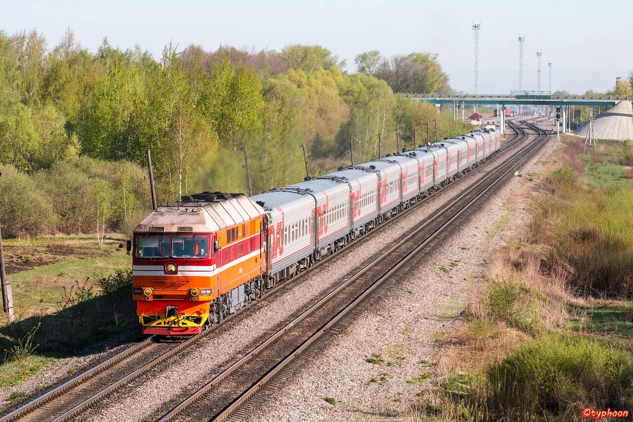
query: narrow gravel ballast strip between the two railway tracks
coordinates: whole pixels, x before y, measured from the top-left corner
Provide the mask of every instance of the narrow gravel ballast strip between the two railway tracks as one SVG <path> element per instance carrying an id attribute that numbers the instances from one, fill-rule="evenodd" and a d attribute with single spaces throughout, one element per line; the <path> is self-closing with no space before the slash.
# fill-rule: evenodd
<path id="1" fill-rule="evenodd" d="M 493 160 L 488 165 L 495 163 L 496 160 Z M 239 324 L 226 329 L 221 336 L 213 335 L 202 340 L 178 359 L 172 359 L 166 368 L 156 369 L 135 380 L 133 386 L 118 390 L 78 419 L 149 420 L 160 416 L 248 352 L 254 346 L 254 340 L 284 323 L 291 312 L 304 309 L 316 297 L 332 290 L 344 280 L 350 269 L 384 250 L 385 245 L 393 243 L 411 227 L 432 215 L 451 196 L 468 188 L 482 176 L 483 172 L 477 172 L 449 185 L 418 208 L 410 210 L 388 230 L 375 233 L 367 240 L 357 241 L 356 245 L 350 245 L 326 265 L 313 269 L 305 278 L 291 283 L 281 295 L 257 304 L 253 312 L 248 312 Z"/>

